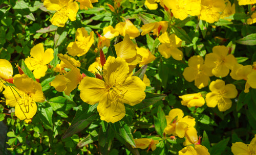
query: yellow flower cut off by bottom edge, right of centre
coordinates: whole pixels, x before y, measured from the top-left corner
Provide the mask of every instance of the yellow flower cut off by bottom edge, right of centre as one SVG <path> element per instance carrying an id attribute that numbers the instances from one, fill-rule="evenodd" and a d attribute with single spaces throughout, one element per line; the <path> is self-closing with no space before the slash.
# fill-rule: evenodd
<path id="1" fill-rule="evenodd" d="M 179 151 L 179 155 L 210 155 L 208 149 L 203 145 L 186 146 Z"/>

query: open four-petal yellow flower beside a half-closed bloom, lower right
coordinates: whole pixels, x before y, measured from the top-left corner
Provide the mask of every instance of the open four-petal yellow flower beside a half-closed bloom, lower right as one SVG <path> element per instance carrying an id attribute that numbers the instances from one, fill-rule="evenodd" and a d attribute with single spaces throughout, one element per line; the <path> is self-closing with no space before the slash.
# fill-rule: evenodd
<path id="1" fill-rule="evenodd" d="M 216 107 L 221 112 L 231 108 L 232 101 L 230 98 L 235 98 L 238 95 L 236 86 L 233 84 L 225 85 L 223 80 L 216 80 L 210 83 L 209 89 L 211 92 L 206 94 L 205 101 L 208 107 Z"/>

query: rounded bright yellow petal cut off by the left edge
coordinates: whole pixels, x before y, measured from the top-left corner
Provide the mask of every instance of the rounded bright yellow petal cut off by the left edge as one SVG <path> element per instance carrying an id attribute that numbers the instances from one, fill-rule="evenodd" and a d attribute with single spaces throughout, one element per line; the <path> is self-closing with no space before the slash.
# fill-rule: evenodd
<path id="1" fill-rule="evenodd" d="M 0 59 L 0 77 L 3 79 L 10 79 L 12 78 L 12 74 L 12 64 L 5 59 Z"/>

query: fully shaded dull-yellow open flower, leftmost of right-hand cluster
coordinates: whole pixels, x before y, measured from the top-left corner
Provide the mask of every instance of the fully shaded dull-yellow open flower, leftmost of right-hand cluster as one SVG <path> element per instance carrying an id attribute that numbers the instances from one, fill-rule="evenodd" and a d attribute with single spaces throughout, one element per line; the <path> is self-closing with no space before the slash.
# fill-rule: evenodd
<path id="1" fill-rule="evenodd" d="M 208 86 L 209 76 L 212 76 L 212 73 L 201 56 L 193 56 L 188 59 L 188 67 L 184 69 L 183 76 L 188 82 L 195 80 L 195 85 L 201 89 Z"/>

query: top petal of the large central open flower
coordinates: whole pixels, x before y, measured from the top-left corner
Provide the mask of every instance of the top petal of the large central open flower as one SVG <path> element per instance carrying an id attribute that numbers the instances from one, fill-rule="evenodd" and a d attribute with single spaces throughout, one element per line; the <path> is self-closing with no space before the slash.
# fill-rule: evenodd
<path id="1" fill-rule="evenodd" d="M 122 84 L 128 75 L 129 66 L 124 59 L 108 57 L 103 67 L 103 77 L 106 84 Z"/>

